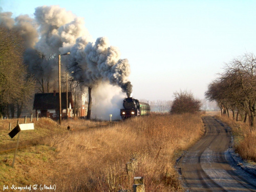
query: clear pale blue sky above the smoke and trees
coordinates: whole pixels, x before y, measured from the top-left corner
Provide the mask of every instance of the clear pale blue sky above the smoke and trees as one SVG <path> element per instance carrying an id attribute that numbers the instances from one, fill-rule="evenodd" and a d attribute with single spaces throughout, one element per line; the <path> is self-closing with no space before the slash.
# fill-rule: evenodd
<path id="1" fill-rule="evenodd" d="M 94 39 L 108 37 L 129 59 L 138 99 L 172 100 L 185 89 L 203 99 L 224 62 L 256 54 L 256 1 L 0 0 L 13 16 L 42 5 L 83 17 Z"/>

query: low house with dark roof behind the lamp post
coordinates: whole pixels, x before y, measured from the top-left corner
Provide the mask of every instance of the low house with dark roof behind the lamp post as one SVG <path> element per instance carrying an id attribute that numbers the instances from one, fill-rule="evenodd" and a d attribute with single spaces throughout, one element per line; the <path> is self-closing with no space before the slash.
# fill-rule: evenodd
<path id="1" fill-rule="evenodd" d="M 49 117 L 53 120 L 59 119 L 59 93 L 36 93 L 33 110 L 38 113 L 38 117 Z M 72 93 L 68 92 L 68 113 L 67 113 L 67 93 L 61 93 L 62 118 L 72 117 L 73 99 Z"/>

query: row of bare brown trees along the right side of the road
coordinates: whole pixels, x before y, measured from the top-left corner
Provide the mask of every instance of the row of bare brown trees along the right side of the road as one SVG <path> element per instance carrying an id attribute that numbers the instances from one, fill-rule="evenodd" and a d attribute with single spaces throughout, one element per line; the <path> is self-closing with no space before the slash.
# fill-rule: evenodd
<path id="1" fill-rule="evenodd" d="M 224 72 L 209 83 L 205 97 L 216 101 L 222 115 L 255 124 L 256 115 L 256 57 L 253 53 L 225 63 Z"/>

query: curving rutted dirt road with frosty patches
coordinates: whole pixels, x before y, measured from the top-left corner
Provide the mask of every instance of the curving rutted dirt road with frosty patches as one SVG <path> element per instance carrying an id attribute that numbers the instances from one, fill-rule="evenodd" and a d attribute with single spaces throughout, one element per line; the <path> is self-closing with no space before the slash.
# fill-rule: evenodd
<path id="1" fill-rule="evenodd" d="M 214 117 L 203 117 L 206 135 L 178 166 L 187 191 L 256 191 L 256 177 L 241 169 L 228 152 L 231 131 Z"/>

